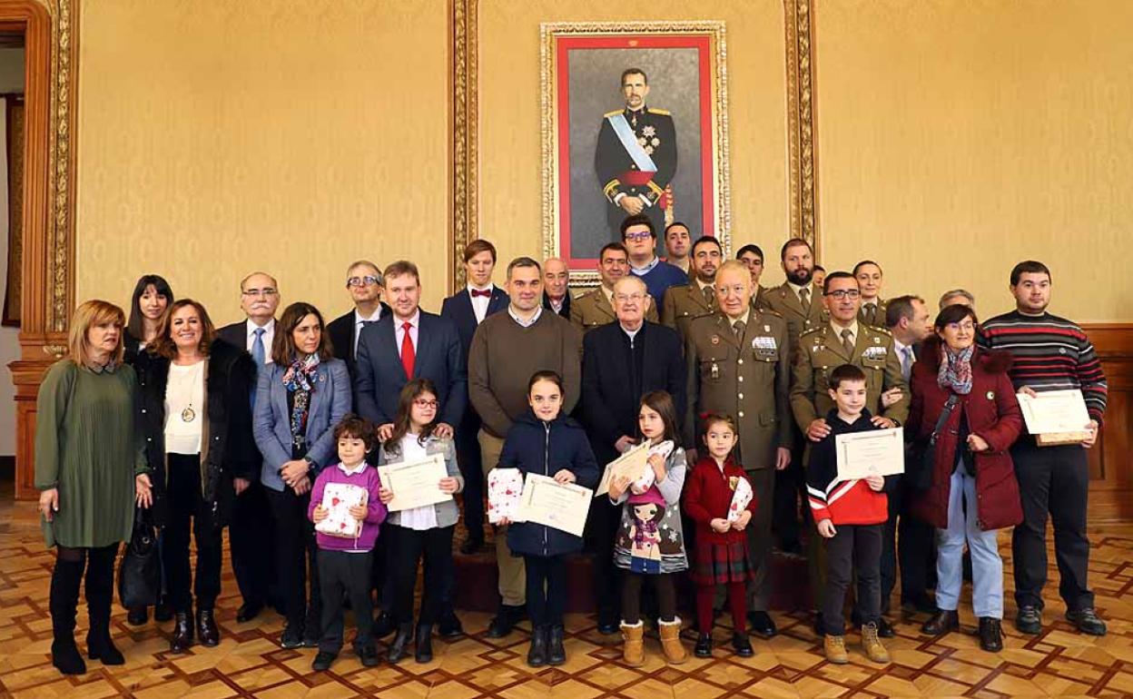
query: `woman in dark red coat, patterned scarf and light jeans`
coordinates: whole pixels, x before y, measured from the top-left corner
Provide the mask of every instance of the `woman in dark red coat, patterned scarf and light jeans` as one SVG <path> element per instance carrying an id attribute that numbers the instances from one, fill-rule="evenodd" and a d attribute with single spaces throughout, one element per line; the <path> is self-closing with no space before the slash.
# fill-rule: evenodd
<path id="1" fill-rule="evenodd" d="M 1023 420 L 1007 377 L 1011 356 L 977 348 L 977 324 L 976 312 L 962 305 L 947 306 L 936 317 L 936 336 L 926 341 L 913 366 L 905 428 L 913 440 L 927 442 L 947 411 L 937 433 L 932 485 L 913 501 L 913 513 L 936 527 L 937 538 L 938 611 L 921 631 L 937 636 L 960 628 L 966 542 L 980 647 L 997 653 L 1003 649 L 1003 560 L 996 530 L 1023 519 L 1007 451 Z"/>

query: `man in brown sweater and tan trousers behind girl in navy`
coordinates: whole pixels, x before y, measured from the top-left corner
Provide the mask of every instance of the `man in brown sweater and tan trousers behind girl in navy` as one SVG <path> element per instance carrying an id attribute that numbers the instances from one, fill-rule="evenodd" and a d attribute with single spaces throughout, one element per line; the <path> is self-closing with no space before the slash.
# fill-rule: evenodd
<path id="1" fill-rule="evenodd" d="M 484 474 L 496 467 L 512 423 L 528 409 L 527 384 L 542 369 L 563 377 L 563 412 L 578 403 L 582 384 L 582 347 L 571 324 L 544 312 L 543 272 L 530 257 L 508 265 L 505 313 L 488 316 L 476 329 L 468 352 L 468 398 L 480 416 L 480 454 Z M 526 604 L 523 559 L 512 556 L 501 529 L 495 537 L 500 568 L 500 613 L 488 626 L 488 638 L 508 636 Z"/>

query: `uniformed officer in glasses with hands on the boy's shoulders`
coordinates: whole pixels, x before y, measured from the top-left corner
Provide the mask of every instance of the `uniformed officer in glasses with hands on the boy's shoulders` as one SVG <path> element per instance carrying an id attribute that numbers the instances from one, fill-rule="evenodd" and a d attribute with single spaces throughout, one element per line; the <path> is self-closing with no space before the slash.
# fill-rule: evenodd
<path id="1" fill-rule="evenodd" d="M 829 394 L 829 375 L 843 364 L 853 364 L 866 373 L 866 408 L 875 425 L 897 427 L 909 417 L 909 386 L 901 375 L 901 359 L 893 348 L 893 335 L 881 327 L 870 327 L 858 321 L 861 292 L 858 280 L 849 272 L 826 275 L 823 304 L 829 322 L 813 327 L 799 338 L 791 378 L 791 410 L 794 420 L 811 442 L 830 433 L 826 415 L 834 408 Z M 883 406 L 881 394 L 889 393 L 896 402 Z M 807 450 L 810 451 L 809 449 Z M 826 571 L 818 544 L 810 536 L 811 593 L 820 606 Z M 892 637 L 893 629 L 881 619 L 879 633 Z"/>

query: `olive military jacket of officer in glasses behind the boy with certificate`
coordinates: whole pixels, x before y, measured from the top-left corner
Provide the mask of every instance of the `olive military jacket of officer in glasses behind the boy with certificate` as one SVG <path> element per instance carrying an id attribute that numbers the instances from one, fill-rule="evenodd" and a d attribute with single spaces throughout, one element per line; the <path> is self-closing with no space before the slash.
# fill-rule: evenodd
<path id="1" fill-rule="evenodd" d="M 830 372 L 843 364 L 854 364 L 866 372 L 866 408 L 901 424 L 909 417 L 909 385 L 901 376 L 901 359 L 893 348 L 893 335 L 880 327 L 858 323 L 852 355 L 846 355 L 842 340 L 827 323 L 802 333 L 794 357 L 791 381 L 791 410 L 803 432 L 815 419 L 826 417 L 834 400 L 830 398 Z M 881 393 L 900 387 L 902 398 L 881 409 Z"/>

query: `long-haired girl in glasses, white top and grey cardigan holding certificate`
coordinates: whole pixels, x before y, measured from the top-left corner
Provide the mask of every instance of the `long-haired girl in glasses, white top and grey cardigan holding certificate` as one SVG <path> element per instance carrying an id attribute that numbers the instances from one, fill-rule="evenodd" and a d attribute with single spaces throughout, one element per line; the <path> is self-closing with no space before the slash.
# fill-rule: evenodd
<path id="1" fill-rule="evenodd" d="M 451 497 L 465 488 L 465 479 L 457 467 L 457 451 L 452 440 L 433 434 L 437 414 L 436 386 L 427 378 L 415 378 L 401 389 L 398 417 L 393 434 L 377 454 L 378 464 L 420 461 L 429 455 L 444 458 L 446 476 L 437 481 L 437 489 L 448 498 L 432 505 L 391 512 L 382 536 L 390 537 L 390 565 L 392 566 L 394 621 L 398 633 L 390 643 L 386 656 L 397 663 L 406 656 L 414 626 L 414 587 L 417 564 L 425 561 L 425 594 L 417 620 L 415 659 L 433 659 L 433 624 L 440 614 L 441 593 L 452 578 L 452 534 L 457 528 L 457 502 Z M 394 492 L 382 483 L 380 496 L 389 504 Z"/>

